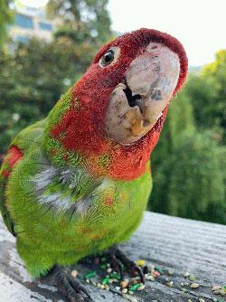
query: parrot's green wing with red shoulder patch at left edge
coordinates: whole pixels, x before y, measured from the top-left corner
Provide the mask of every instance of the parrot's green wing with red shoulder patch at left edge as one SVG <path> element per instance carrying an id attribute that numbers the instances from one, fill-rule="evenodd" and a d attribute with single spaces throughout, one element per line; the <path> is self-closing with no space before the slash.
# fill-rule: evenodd
<path id="1" fill-rule="evenodd" d="M 14 173 L 14 165 L 28 153 L 28 150 L 35 141 L 37 142 L 42 137 L 45 119 L 26 127 L 13 140 L 5 154 L 1 169 L 0 169 L 0 212 L 2 213 L 7 229 L 15 236 L 14 222 L 10 218 L 10 212 L 7 209 L 7 198 L 5 196 L 5 187 L 8 183 L 8 178 Z"/>

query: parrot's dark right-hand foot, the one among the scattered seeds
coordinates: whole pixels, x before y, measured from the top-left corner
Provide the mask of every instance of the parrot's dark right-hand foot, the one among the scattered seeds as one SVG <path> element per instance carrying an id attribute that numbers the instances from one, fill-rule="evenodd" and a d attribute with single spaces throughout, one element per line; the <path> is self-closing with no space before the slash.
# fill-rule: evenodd
<path id="1" fill-rule="evenodd" d="M 128 274 L 137 275 L 140 278 L 140 281 L 145 284 L 143 270 L 139 266 L 137 266 L 134 261 L 130 260 L 127 255 L 118 248 L 118 246 L 110 248 L 106 252 L 106 256 L 108 257 L 111 266 L 118 270 L 121 278 L 123 278 L 123 270 L 125 269 Z"/>

